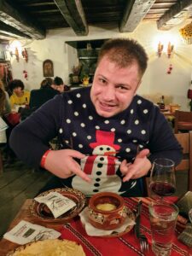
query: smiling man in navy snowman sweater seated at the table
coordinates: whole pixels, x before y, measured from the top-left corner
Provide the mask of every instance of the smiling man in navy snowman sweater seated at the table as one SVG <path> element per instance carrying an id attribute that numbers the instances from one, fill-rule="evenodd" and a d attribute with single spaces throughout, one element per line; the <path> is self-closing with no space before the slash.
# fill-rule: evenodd
<path id="1" fill-rule="evenodd" d="M 164 115 L 136 94 L 147 62 L 136 41 L 108 40 L 91 87 L 55 96 L 15 127 L 10 144 L 18 157 L 55 175 L 46 189 L 138 196 L 154 159 L 179 163 L 182 148 Z M 60 150 L 49 150 L 54 137 Z"/>

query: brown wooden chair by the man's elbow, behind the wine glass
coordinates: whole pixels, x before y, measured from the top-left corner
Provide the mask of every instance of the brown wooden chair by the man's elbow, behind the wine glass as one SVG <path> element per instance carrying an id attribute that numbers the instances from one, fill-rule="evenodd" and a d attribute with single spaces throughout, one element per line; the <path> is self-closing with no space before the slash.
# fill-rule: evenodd
<path id="1" fill-rule="evenodd" d="M 192 191 L 192 131 L 186 133 L 175 134 L 178 143 L 183 147 L 183 160 L 178 166 L 176 166 L 176 172 L 187 171 L 188 175 L 188 187 L 187 191 Z M 182 182 L 182 180 L 181 180 Z M 150 196 L 150 190 L 148 189 L 149 177 L 145 177 L 144 180 L 144 196 Z"/>

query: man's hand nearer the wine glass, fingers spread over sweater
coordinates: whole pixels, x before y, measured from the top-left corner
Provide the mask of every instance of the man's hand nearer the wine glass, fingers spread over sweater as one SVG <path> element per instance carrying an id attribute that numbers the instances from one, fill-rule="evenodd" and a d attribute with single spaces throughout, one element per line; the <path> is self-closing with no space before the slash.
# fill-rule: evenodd
<path id="1" fill-rule="evenodd" d="M 149 150 L 146 148 L 137 154 L 136 159 L 132 164 L 128 163 L 126 160 L 122 161 L 120 165 L 120 172 L 125 175 L 123 182 L 143 177 L 148 173 L 151 168 L 151 162 L 147 158 L 148 154 Z"/>

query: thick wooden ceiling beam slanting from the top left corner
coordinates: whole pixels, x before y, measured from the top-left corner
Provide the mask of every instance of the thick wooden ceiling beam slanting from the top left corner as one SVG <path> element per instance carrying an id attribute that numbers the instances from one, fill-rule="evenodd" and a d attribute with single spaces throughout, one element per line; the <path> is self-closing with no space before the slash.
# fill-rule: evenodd
<path id="1" fill-rule="evenodd" d="M 45 31 L 42 28 L 35 26 L 28 16 L 4 0 L 0 0 L 0 20 L 30 38 L 45 38 Z"/>

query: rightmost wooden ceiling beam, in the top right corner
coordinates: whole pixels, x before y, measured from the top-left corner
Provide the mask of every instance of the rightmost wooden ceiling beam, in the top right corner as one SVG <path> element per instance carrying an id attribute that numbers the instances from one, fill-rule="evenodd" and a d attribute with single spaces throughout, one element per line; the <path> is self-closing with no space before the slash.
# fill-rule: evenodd
<path id="1" fill-rule="evenodd" d="M 164 15 L 157 20 L 157 28 L 160 30 L 169 30 L 173 26 L 178 25 L 190 17 L 192 7 L 192 0 L 180 0 L 178 3 L 166 11 Z"/>

